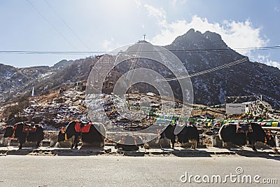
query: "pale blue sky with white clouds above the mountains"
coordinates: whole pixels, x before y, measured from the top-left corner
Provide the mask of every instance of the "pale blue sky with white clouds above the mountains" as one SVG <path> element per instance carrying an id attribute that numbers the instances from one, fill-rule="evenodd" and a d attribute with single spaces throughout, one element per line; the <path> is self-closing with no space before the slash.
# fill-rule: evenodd
<path id="1" fill-rule="evenodd" d="M 221 34 L 230 48 L 280 46 L 280 1 L 1 0 L 0 51 L 110 51 L 143 39 L 172 43 L 194 28 Z M 280 49 L 239 51 L 280 68 Z M 15 67 L 52 66 L 86 55 L 0 53 Z"/>

